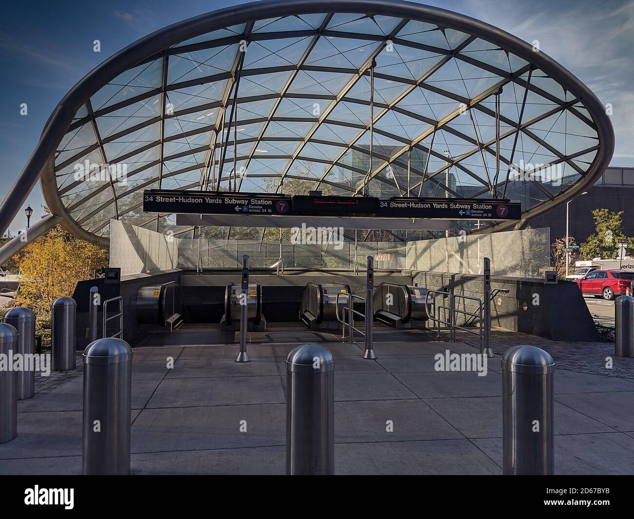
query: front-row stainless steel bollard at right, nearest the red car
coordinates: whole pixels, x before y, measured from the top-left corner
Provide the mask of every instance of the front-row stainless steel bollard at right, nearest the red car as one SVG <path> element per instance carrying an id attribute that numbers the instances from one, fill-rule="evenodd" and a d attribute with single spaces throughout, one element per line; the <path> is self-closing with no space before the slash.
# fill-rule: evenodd
<path id="1" fill-rule="evenodd" d="M 515 346 L 502 357 L 502 454 L 505 475 L 554 471 L 555 363 L 534 346 Z"/>

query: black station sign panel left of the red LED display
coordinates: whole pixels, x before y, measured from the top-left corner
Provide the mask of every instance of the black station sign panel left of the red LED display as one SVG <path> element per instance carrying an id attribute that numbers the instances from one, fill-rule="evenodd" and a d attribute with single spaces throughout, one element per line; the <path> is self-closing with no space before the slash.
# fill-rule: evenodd
<path id="1" fill-rule="evenodd" d="M 143 211 L 174 214 L 290 214 L 290 198 L 266 193 L 216 193 L 214 191 L 143 192 Z"/>

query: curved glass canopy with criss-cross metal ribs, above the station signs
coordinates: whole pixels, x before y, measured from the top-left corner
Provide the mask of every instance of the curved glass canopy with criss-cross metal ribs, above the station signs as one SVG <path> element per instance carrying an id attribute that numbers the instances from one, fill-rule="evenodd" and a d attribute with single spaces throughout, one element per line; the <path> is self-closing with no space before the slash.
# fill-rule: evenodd
<path id="1" fill-rule="evenodd" d="M 508 49 L 331 12 L 214 30 L 126 70 L 75 114 L 55 179 L 70 219 L 108 236 L 110 219 L 169 224 L 142 212 L 152 188 L 495 197 L 527 210 L 585 176 L 599 148 L 583 101 Z M 78 178 L 91 165 L 101 174 Z"/>

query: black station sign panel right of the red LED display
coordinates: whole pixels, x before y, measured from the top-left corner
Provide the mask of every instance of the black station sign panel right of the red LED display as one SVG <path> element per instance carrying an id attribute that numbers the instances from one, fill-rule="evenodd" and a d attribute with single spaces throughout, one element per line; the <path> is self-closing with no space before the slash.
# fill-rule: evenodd
<path id="1" fill-rule="evenodd" d="M 450 220 L 519 220 L 521 203 L 508 200 L 391 198 L 381 200 L 378 216 Z"/>

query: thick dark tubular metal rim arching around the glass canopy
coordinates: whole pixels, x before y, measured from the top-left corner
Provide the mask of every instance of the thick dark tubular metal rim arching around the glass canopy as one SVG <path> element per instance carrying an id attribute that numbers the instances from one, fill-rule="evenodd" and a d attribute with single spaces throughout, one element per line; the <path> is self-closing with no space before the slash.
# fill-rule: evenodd
<path id="1" fill-rule="evenodd" d="M 592 184 L 602 174 L 607 163 L 609 163 L 614 150 L 614 132 L 609 119 L 605 116 L 604 107 L 600 101 L 576 77 L 561 67 L 559 63 L 543 53 L 533 53 L 531 46 L 526 42 L 522 42 L 507 32 L 473 18 L 419 4 L 400 1 L 344 0 L 338 2 L 336 7 L 337 12 L 423 20 L 444 28 L 462 30 L 475 37 L 481 37 L 486 41 L 498 44 L 503 49 L 512 51 L 519 57 L 531 56 L 527 61 L 534 63 L 536 67 L 553 77 L 560 84 L 566 84 L 567 89 L 576 98 L 583 101 L 584 107 L 590 113 L 590 117 L 596 124 L 597 132 L 600 136 L 600 148 L 597 155 L 586 172 L 583 181 L 578 181 L 578 183 L 567 189 L 564 195 L 560 195 L 555 200 L 549 203 L 541 203 L 537 207 L 531 208 L 531 210 L 526 212 L 526 217 L 529 215 L 533 217 L 555 205 L 559 205 L 559 203 L 566 202 L 579 191 L 586 188 L 586 186 Z M 63 207 L 61 199 L 57 195 L 55 172 L 50 160 L 55 154 L 56 146 L 61 142 L 68 127 L 72 124 L 75 113 L 77 113 L 77 110 L 79 110 L 86 99 L 89 99 L 103 84 L 107 84 L 125 70 L 133 68 L 144 60 L 152 59 L 153 56 L 158 56 L 164 49 L 168 49 L 174 44 L 191 37 L 256 19 L 279 18 L 280 16 L 295 14 L 324 13 L 324 11 L 332 10 L 325 9 L 323 3 L 314 0 L 292 0 L 282 4 L 275 1 L 243 4 L 175 23 L 144 37 L 108 58 L 108 60 L 80 80 L 51 114 L 36 149 L 27 161 L 18 181 L 8 193 L 2 207 L 0 207 L 0 231 L 4 231 L 8 227 L 23 200 L 37 181 L 37 177 L 42 174 L 42 190 L 53 214 L 64 217 L 67 229 L 77 236 L 93 241 L 101 241 L 78 226 L 68 215 L 67 209 Z M 503 227 L 496 226 L 496 229 L 503 230 Z"/>

